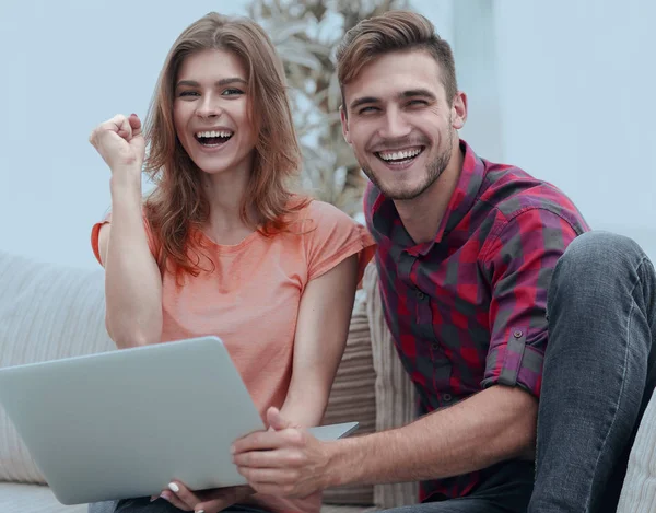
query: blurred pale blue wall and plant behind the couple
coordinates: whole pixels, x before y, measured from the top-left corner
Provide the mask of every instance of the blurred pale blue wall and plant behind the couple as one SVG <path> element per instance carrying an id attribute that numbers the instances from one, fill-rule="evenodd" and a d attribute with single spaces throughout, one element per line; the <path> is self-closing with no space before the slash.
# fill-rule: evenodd
<path id="1" fill-rule="evenodd" d="M 89 235 L 109 207 L 109 171 L 89 135 L 117 113 L 145 115 L 171 45 L 209 11 L 268 30 L 293 90 L 304 186 L 359 217 L 333 47 L 359 19 L 406 7 L 454 48 L 475 151 L 559 186 L 594 228 L 656 260 L 652 0 L 2 0 L 0 249 L 97 266 Z"/>

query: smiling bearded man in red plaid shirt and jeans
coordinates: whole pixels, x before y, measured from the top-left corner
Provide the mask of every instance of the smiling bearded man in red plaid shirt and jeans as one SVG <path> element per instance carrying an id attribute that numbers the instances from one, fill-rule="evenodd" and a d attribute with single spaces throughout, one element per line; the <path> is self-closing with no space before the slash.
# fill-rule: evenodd
<path id="1" fill-rule="evenodd" d="M 344 137 L 372 182 L 385 316 L 422 416 L 325 443 L 270 410 L 273 430 L 234 444 L 239 471 L 288 495 L 421 480 L 407 512 L 614 511 L 656 378 L 652 264 L 459 139 L 467 98 L 425 18 L 361 22 L 338 72 Z"/>

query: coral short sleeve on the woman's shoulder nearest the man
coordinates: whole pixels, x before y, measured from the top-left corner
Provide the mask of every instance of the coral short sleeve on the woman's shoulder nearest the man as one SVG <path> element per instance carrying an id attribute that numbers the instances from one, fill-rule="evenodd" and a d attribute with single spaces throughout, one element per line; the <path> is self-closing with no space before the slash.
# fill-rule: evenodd
<path id="1" fill-rule="evenodd" d="M 304 246 L 308 281 L 358 255 L 358 281 L 372 259 L 375 245 L 366 229 L 332 205 L 313 200 L 306 208 Z"/>

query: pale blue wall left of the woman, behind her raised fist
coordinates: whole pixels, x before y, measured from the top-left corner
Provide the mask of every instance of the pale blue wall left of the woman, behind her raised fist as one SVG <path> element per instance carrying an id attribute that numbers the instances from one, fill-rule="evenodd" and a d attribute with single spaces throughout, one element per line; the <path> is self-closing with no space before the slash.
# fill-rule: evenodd
<path id="1" fill-rule="evenodd" d="M 245 4 L 2 0 L 0 249 L 97 266 L 89 236 L 109 207 L 109 171 L 91 130 L 117 113 L 143 117 L 177 35 Z"/>

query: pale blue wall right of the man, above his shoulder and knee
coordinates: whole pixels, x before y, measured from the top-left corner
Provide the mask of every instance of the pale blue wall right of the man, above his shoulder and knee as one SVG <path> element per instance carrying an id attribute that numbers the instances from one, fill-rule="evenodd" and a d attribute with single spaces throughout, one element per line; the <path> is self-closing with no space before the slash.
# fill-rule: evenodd
<path id="1" fill-rule="evenodd" d="M 656 3 L 494 3 L 504 158 L 656 261 Z"/>

